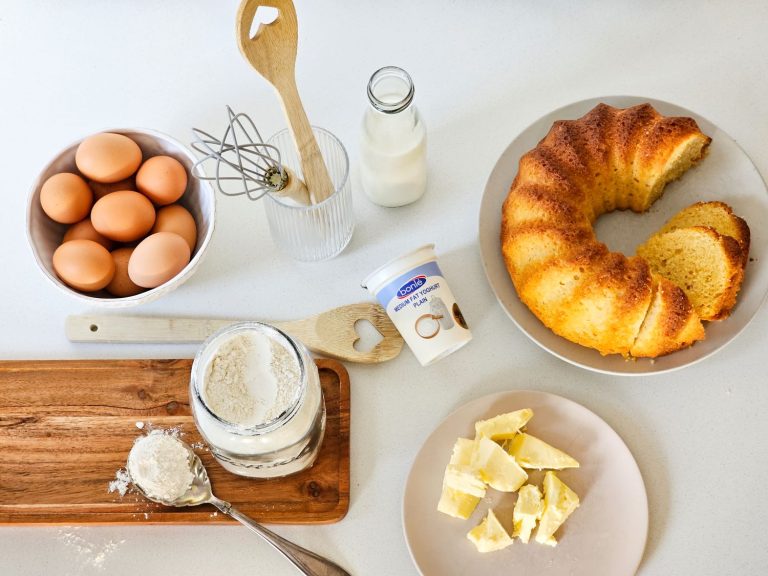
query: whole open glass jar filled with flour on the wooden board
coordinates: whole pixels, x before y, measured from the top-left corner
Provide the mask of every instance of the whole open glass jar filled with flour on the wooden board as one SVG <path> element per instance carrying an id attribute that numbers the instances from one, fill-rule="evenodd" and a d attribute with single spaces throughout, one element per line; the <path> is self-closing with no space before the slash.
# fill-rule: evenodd
<path id="1" fill-rule="evenodd" d="M 311 466 L 325 433 L 317 365 L 303 344 L 260 322 L 213 334 L 195 356 L 192 414 L 230 472 L 273 478 Z"/>

